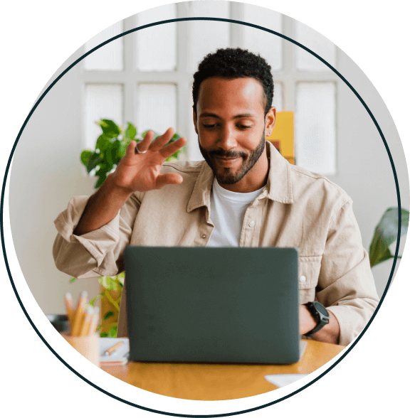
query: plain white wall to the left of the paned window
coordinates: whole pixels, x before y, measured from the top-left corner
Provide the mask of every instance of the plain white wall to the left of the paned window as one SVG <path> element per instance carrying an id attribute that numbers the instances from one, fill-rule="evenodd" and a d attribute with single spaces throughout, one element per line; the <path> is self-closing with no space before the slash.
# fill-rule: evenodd
<path id="1" fill-rule="evenodd" d="M 56 75 L 79 57 L 80 53 L 73 54 Z M 74 300 L 83 290 L 90 298 L 99 293 L 97 280 L 70 284 L 70 277 L 56 269 L 52 255 L 56 237 L 53 220 L 67 207 L 70 197 L 93 193 L 95 181 L 85 176 L 79 161 L 82 145 L 78 80 L 77 66 L 38 104 L 21 134 L 11 164 L 9 217 L 14 250 L 26 284 L 44 314 L 65 313 L 67 291 Z M 50 84 L 49 80 L 46 87 Z"/>

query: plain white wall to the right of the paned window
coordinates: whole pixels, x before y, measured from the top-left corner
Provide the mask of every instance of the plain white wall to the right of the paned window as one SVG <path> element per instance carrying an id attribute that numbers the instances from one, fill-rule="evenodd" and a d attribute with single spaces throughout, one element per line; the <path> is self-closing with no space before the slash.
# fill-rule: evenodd
<path id="1" fill-rule="evenodd" d="M 340 51 L 338 70 L 357 90 L 369 107 L 374 119 L 384 135 L 391 153 L 399 182 L 401 208 L 410 210 L 409 170 L 399 132 L 391 117 L 388 106 L 379 92 L 357 63 Z M 345 189 L 353 199 L 354 213 L 362 232 L 364 247 L 369 250 L 374 228 L 384 211 L 398 206 L 396 183 L 393 168 L 384 146 L 382 136 L 377 130 L 367 110 L 359 102 L 352 90 L 342 82 L 339 85 L 337 107 L 337 175 L 330 180 Z M 404 251 L 406 236 L 401 237 L 399 254 Z M 396 242 L 390 246 L 391 253 L 396 251 Z M 399 267 L 397 260 L 395 272 Z M 382 296 L 389 281 L 394 260 L 378 264 L 373 268 L 379 296 Z"/>

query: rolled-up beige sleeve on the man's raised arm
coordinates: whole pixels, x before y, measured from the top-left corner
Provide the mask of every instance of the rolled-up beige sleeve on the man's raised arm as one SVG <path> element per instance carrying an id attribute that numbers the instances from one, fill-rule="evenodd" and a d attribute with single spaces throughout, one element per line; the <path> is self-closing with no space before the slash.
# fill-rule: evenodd
<path id="1" fill-rule="evenodd" d="M 58 234 L 53 245 L 56 267 L 78 279 L 115 276 L 123 270 L 121 256 L 130 243 L 140 201 L 127 200 L 114 219 L 98 230 L 74 235 L 89 196 L 72 198 L 54 221 Z"/>

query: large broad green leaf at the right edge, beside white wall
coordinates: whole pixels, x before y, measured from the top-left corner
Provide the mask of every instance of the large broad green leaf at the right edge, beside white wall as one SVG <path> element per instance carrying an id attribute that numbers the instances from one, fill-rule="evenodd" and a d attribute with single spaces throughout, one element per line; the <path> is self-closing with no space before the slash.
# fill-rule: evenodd
<path id="1" fill-rule="evenodd" d="M 401 209 L 400 219 L 400 236 L 402 236 L 409 229 L 409 210 Z M 372 243 L 369 248 L 371 267 L 394 257 L 389 250 L 389 245 L 397 239 L 398 233 L 399 209 L 389 208 L 384 212 L 382 219 L 374 230 Z"/>

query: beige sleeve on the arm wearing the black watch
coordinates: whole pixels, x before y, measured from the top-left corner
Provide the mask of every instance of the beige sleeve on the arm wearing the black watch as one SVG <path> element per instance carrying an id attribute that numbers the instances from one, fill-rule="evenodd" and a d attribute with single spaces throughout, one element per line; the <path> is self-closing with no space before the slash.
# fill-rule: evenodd
<path id="1" fill-rule="evenodd" d="M 340 345 L 352 343 L 379 304 L 369 254 L 362 245 L 351 199 L 332 216 L 316 299 L 337 318 Z"/>

